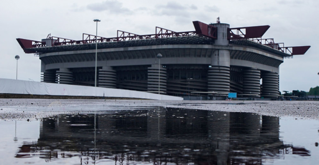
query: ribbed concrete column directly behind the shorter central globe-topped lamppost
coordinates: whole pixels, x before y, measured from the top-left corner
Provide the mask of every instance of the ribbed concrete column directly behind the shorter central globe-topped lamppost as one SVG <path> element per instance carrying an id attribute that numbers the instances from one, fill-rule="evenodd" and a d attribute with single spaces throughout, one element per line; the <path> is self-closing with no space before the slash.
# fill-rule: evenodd
<path id="1" fill-rule="evenodd" d="M 159 72 L 160 72 L 160 76 L 159 76 Z M 160 90 L 160 92 L 162 92 L 161 94 L 165 94 L 166 84 L 167 84 L 167 74 L 166 74 L 166 68 L 163 68 L 163 65 L 159 66 L 158 64 L 153 64 L 151 67 L 148 67 L 147 91 L 154 92 L 154 91 Z"/>

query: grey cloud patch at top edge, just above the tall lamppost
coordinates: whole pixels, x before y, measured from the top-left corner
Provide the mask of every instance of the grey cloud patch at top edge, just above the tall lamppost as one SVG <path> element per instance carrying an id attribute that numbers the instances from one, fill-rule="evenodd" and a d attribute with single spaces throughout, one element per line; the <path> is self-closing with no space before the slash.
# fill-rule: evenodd
<path id="1" fill-rule="evenodd" d="M 131 11 L 128 8 L 123 8 L 122 3 L 116 0 L 104 1 L 101 3 L 92 3 L 87 5 L 87 9 L 92 11 L 108 11 L 115 14 L 130 14 Z"/>

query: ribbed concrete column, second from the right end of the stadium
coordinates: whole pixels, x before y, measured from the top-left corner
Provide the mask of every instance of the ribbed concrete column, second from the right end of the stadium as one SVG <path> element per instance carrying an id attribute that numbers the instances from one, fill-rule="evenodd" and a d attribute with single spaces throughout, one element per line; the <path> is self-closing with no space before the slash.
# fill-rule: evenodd
<path id="1" fill-rule="evenodd" d="M 250 68 L 243 71 L 243 94 L 260 97 L 260 70 Z"/>

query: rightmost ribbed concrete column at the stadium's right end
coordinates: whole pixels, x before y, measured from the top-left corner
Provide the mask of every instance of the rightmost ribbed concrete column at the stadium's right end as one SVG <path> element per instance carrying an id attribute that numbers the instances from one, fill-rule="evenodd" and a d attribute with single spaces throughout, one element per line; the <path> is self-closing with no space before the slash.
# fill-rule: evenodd
<path id="1" fill-rule="evenodd" d="M 278 83 L 278 73 L 275 72 L 265 72 L 262 75 L 263 78 L 263 90 L 262 95 L 265 97 L 278 97 L 279 95 L 279 83 Z"/>

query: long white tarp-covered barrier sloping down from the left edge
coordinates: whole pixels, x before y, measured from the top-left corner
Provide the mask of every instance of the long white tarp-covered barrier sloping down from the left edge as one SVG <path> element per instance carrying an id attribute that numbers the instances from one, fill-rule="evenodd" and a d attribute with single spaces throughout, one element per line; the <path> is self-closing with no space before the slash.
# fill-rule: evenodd
<path id="1" fill-rule="evenodd" d="M 182 97 L 147 93 L 141 91 L 44 83 L 15 79 L 0 79 L 0 93 L 56 96 L 126 97 L 153 100 L 183 100 Z"/>

